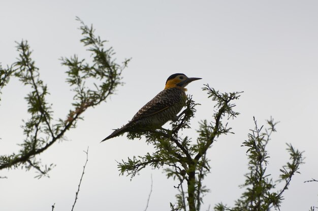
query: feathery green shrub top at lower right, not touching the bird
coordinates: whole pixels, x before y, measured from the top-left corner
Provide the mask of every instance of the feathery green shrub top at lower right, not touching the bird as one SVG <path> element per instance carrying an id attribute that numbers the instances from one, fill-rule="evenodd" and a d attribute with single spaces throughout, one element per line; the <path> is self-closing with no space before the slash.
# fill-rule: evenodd
<path id="1" fill-rule="evenodd" d="M 257 121 L 254 118 L 255 129 L 248 134 L 248 139 L 243 142 L 243 147 L 247 147 L 248 170 L 245 174 L 245 183 L 241 185 L 245 188 L 240 199 L 238 199 L 233 208 L 219 203 L 214 210 L 270 210 L 272 207 L 278 208 L 283 200 L 282 194 L 288 189 L 288 186 L 295 173 L 299 173 L 299 166 L 303 163 L 303 152 L 295 150 L 292 145 L 288 144 L 287 151 L 290 154 L 290 162 L 282 166 L 280 169 L 280 178 L 273 182 L 270 174 L 267 174 L 268 153 L 266 146 L 270 140 L 272 132 L 275 132 L 275 126 L 278 122 L 274 122 L 271 118 L 267 121 L 268 128 L 264 132 L 263 126 L 258 128 Z M 280 182 L 284 183 L 281 190 L 276 190 L 276 185 Z"/>

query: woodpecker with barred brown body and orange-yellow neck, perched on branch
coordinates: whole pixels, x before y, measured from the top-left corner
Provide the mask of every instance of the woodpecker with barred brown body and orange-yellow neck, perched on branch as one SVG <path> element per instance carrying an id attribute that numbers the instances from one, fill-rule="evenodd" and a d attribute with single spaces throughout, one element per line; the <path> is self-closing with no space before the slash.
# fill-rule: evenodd
<path id="1" fill-rule="evenodd" d="M 169 120 L 176 120 L 178 118 L 177 114 L 185 105 L 186 89 L 184 87 L 190 82 L 199 79 L 201 78 L 188 78 L 182 73 L 171 75 L 167 79 L 163 91 L 145 104 L 128 124 L 115 130 L 104 138 L 102 142 L 124 132 L 158 129 Z"/>

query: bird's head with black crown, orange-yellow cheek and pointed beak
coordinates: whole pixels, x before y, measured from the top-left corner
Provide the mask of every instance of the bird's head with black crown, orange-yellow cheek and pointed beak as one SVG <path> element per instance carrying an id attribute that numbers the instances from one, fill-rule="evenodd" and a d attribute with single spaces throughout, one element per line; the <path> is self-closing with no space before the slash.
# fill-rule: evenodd
<path id="1" fill-rule="evenodd" d="M 190 82 L 200 80 L 200 79 L 201 78 L 188 78 L 188 77 L 186 77 L 186 75 L 184 75 L 182 73 L 176 73 L 176 74 L 169 76 L 169 78 L 167 79 L 167 82 L 166 82 L 165 89 L 177 87 L 177 88 L 181 88 L 182 90 L 186 91 L 186 89 L 184 88 L 186 85 L 188 85 Z"/>

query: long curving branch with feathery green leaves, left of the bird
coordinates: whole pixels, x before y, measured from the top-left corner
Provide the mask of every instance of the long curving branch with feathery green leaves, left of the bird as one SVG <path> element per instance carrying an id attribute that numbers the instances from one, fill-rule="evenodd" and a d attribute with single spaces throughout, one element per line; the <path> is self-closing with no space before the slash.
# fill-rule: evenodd
<path id="1" fill-rule="evenodd" d="M 48 88 L 40 79 L 39 68 L 31 58 L 32 51 L 27 41 L 17 43 L 19 57 L 15 63 L 5 69 L 0 66 L 0 93 L 10 77 L 17 77 L 24 86 L 30 87 L 30 92 L 25 97 L 30 117 L 22 126 L 25 138 L 20 144 L 21 149 L 18 153 L 1 155 L 0 169 L 35 168 L 40 172 L 37 177 L 46 175 L 54 165 L 43 166 L 37 155 L 57 140 L 63 139 L 67 130 L 76 127 L 77 121 L 86 109 L 106 101 L 118 85 L 122 84 L 121 73 L 130 59 L 117 64 L 113 58 L 113 49 L 104 47 L 106 41 L 95 36 L 92 26 L 88 27 L 79 18 L 77 20 L 81 23 L 80 30 L 84 37 L 81 43 L 91 52 L 92 62 L 79 59 L 77 55 L 61 58 L 62 65 L 68 67 L 67 82 L 74 91 L 73 108 L 66 118 L 53 120 L 52 104 L 47 101 Z M 92 81 L 93 86 L 85 85 L 86 82 Z"/>

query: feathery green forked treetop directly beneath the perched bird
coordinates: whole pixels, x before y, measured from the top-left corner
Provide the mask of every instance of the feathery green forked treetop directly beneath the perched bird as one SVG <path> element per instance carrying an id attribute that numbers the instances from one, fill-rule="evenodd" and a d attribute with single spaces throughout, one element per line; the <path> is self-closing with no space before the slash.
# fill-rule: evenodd
<path id="1" fill-rule="evenodd" d="M 216 111 L 212 115 L 214 121 L 208 123 L 202 121 L 198 130 L 199 137 L 193 142 L 188 136 L 179 135 L 180 131 L 190 129 L 190 120 L 196 112 L 196 105 L 191 96 L 187 97 L 185 110 L 181 118 L 171 123 L 170 130 L 151 130 L 144 132 L 131 132 L 128 138 L 140 138 L 144 136 L 146 142 L 155 148 L 155 152 L 145 156 L 134 156 L 128 161 L 118 163 L 120 173 L 130 175 L 132 178 L 146 166 L 152 168 L 164 168 L 168 178 L 178 181 L 175 186 L 179 190 L 177 204 L 171 204 L 171 210 L 199 210 L 202 197 L 208 189 L 202 184 L 209 172 L 209 160 L 206 158 L 207 150 L 220 134 L 231 133 L 225 120 L 236 117 L 239 113 L 234 112 L 233 100 L 239 98 L 240 92 L 220 93 L 205 85 L 208 97 L 216 104 Z M 225 119 L 225 120 L 224 120 Z M 183 189 L 186 182 L 186 189 Z M 187 196 L 186 196 L 187 195 Z M 187 201 L 187 202 L 186 202 Z"/>

